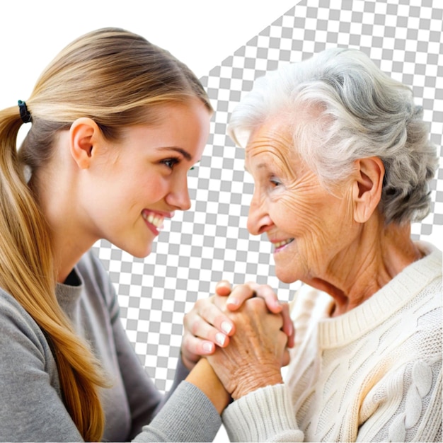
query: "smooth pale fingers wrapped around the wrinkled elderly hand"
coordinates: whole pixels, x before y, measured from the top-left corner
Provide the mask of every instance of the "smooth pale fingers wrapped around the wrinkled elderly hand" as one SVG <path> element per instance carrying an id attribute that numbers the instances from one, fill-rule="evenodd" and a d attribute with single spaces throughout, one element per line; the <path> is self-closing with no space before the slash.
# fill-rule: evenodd
<path id="1" fill-rule="evenodd" d="M 272 313 L 281 313 L 283 330 L 288 336 L 288 347 L 294 343 L 294 327 L 289 318 L 287 304 L 277 300 L 277 295 L 270 286 L 253 282 L 241 284 L 231 289 L 229 282 L 217 284 L 216 295 L 207 299 L 199 299 L 192 310 L 184 317 L 184 334 L 181 348 L 183 363 L 192 369 L 202 355 L 211 355 L 216 347 L 226 347 L 229 337 L 235 333 L 233 321 L 224 312 L 235 311 L 251 297 L 265 300 L 267 309 Z M 229 297 L 227 297 L 229 296 Z"/>

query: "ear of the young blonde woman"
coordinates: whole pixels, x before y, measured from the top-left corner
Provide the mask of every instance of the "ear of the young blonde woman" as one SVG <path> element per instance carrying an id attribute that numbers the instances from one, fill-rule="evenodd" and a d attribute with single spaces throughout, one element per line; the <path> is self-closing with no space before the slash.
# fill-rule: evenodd
<path id="1" fill-rule="evenodd" d="M 79 168 L 89 168 L 101 138 L 100 128 L 91 118 L 81 117 L 72 123 L 69 130 L 69 148 Z"/>

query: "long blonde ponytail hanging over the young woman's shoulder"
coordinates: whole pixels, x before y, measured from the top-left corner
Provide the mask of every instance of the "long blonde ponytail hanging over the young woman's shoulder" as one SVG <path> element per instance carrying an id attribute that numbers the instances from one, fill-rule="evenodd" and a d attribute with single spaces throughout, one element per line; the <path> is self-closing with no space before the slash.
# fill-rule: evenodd
<path id="1" fill-rule="evenodd" d="M 16 139 L 18 108 L 0 111 L 0 286 L 33 317 L 47 336 L 59 372 L 64 405 L 86 441 L 100 441 L 105 386 L 99 364 L 55 296 L 50 229 L 26 183 Z"/>

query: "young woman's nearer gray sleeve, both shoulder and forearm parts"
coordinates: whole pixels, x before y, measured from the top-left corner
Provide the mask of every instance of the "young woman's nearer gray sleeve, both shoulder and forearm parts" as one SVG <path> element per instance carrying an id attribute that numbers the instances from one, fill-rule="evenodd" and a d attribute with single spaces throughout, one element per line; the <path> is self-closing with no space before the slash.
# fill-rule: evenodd
<path id="1" fill-rule="evenodd" d="M 0 349 L 0 442 L 83 442 L 62 402 L 45 335 L 1 290 Z M 135 441 L 209 442 L 220 425 L 205 394 L 183 381 Z"/>

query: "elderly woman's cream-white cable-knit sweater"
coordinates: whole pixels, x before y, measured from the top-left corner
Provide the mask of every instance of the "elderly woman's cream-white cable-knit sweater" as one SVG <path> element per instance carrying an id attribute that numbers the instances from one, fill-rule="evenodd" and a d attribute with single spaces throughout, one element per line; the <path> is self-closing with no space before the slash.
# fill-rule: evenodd
<path id="1" fill-rule="evenodd" d="M 352 311 L 311 287 L 294 298 L 284 385 L 232 403 L 232 441 L 442 441 L 442 253 L 427 255 Z"/>

